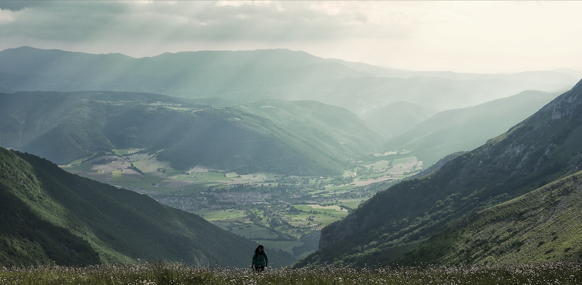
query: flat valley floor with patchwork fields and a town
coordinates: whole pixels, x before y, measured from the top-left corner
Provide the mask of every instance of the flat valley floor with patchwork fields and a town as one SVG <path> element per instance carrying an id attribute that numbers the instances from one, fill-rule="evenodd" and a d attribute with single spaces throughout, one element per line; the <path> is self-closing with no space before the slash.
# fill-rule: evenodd
<path id="1" fill-rule="evenodd" d="M 417 157 L 388 153 L 359 161 L 338 177 L 294 177 L 270 173 L 238 174 L 195 166 L 175 170 L 156 154 L 113 149 L 61 166 L 118 188 L 195 213 L 232 233 L 297 258 L 317 249 L 322 227 L 402 178 L 422 170 Z"/>

